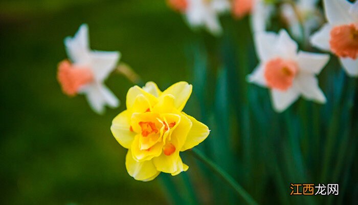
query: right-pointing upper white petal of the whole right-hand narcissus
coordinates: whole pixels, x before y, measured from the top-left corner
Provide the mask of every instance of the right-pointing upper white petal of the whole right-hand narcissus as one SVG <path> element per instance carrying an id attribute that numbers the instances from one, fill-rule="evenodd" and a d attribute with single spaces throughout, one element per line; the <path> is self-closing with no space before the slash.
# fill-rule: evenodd
<path id="1" fill-rule="evenodd" d="M 319 74 L 328 63 L 329 55 L 299 51 L 297 57 L 300 72 Z"/>

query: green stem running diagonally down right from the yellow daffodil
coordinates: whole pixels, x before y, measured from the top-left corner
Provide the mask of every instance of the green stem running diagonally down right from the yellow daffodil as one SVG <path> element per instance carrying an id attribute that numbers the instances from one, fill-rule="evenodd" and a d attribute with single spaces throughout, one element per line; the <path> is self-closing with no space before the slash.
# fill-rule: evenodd
<path id="1" fill-rule="evenodd" d="M 238 195 L 240 195 L 248 204 L 258 204 L 250 194 L 245 191 L 226 171 L 222 170 L 213 161 L 207 158 L 202 152 L 197 149 L 191 149 L 191 153 L 194 157 L 205 163 L 208 168 L 213 171 L 218 177 L 227 182 L 228 185 L 233 188 Z"/>

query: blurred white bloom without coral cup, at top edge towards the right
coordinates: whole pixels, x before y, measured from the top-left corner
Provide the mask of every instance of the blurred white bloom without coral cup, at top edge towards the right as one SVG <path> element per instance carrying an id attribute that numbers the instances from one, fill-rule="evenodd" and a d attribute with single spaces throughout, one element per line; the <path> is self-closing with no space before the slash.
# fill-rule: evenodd
<path id="1" fill-rule="evenodd" d="M 317 9 L 317 0 L 299 0 L 297 1 L 296 10 L 291 4 L 282 4 L 282 15 L 287 21 L 290 32 L 296 38 L 302 38 L 302 31 L 300 26 L 300 20 L 303 25 L 303 35 L 309 36 L 311 31 L 318 28 L 322 18 L 319 10 Z M 298 16 L 297 16 L 298 15 Z"/>

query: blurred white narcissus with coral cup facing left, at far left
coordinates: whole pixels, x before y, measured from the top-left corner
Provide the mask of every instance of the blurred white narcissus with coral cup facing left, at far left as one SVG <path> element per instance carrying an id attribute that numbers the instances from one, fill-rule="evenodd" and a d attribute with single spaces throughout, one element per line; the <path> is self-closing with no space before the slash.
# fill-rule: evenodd
<path id="1" fill-rule="evenodd" d="M 74 37 L 66 37 L 64 44 L 71 61 L 63 60 L 58 65 L 57 79 L 62 91 L 70 96 L 86 95 L 89 105 L 97 113 L 102 113 L 105 105 L 118 107 L 118 98 L 103 81 L 116 68 L 121 54 L 117 51 L 91 51 L 85 24 Z"/>

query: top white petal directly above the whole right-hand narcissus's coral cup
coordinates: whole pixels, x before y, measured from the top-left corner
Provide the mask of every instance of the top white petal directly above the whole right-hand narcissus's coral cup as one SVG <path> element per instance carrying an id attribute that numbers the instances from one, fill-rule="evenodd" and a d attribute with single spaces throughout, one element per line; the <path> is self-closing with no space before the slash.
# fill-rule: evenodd
<path id="1" fill-rule="evenodd" d="M 272 44 L 272 43 L 271 43 Z M 275 44 L 277 52 L 284 58 L 295 58 L 297 54 L 298 45 L 292 38 L 289 37 L 287 31 L 281 29 L 278 34 L 278 39 Z"/>

